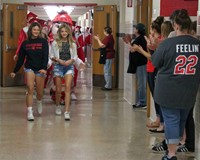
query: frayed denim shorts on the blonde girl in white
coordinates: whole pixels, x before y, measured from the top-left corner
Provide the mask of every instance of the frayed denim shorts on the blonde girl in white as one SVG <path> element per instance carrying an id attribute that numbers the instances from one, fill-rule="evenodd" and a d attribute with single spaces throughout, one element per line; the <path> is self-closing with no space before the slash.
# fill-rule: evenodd
<path id="1" fill-rule="evenodd" d="M 55 64 L 53 67 L 53 76 L 54 77 L 64 77 L 67 74 L 72 74 L 74 76 L 74 65 L 63 66 L 60 64 Z"/>

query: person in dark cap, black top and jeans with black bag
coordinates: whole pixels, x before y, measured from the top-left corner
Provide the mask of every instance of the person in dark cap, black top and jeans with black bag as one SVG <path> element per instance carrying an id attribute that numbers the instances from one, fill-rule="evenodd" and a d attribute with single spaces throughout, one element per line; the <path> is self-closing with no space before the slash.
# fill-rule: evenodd
<path id="1" fill-rule="evenodd" d="M 146 108 L 146 82 L 147 82 L 147 71 L 146 64 L 147 58 L 137 51 L 132 51 L 133 45 L 141 46 L 145 51 L 147 51 L 147 42 L 145 40 L 146 27 L 142 23 L 138 23 L 133 26 L 134 35 L 129 44 L 129 66 L 127 73 L 135 74 L 137 80 L 137 94 L 136 94 L 136 104 L 133 104 L 133 109 Z"/>

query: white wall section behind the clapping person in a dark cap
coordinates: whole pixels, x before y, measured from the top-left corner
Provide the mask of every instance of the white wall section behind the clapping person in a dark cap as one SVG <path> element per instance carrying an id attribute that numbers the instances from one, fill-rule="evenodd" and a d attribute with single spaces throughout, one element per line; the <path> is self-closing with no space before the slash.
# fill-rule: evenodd
<path id="1" fill-rule="evenodd" d="M 133 0 L 133 6 L 127 7 L 127 1 L 120 0 L 120 24 L 119 32 L 132 34 L 133 23 L 135 22 L 135 8 L 137 0 Z M 129 48 L 123 42 L 122 37 L 119 38 L 119 87 L 124 89 L 124 99 L 129 104 L 135 103 L 135 75 L 127 74 L 129 64 Z"/>

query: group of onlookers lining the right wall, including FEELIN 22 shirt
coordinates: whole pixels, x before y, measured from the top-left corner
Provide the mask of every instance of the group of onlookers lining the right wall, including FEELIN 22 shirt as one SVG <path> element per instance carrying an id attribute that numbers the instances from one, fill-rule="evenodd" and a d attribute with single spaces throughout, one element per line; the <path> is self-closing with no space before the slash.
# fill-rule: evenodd
<path id="1" fill-rule="evenodd" d="M 156 121 L 147 126 L 158 127 L 150 129 L 151 132 L 165 133 L 165 140 L 152 148 L 153 151 L 166 151 L 162 160 L 177 160 L 176 152 L 194 152 L 193 109 L 200 84 L 200 41 L 195 35 L 196 21 L 191 21 L 185 9 L 174 11 L 170 20 L 157 17 L 151 23 L 149 37 L 145 37 L 145 26 L 137 24 L 136 38 L 129 43 L 128 72 L 132 69 L 133 73 L 132 66 L 135 65 L 139 90 L 142 89 L 141 83 L 146 85 L 145 74 L 138 77 L 144 73 L 141 66 L 146 67 L 146 64 L 139 60 L 147 59 L 147 82 L 157 115 Z M 138 92 L 138 97 L 140 93 L 144 92 Z M 140 98 L 133 107 L 145 105 Z"/>

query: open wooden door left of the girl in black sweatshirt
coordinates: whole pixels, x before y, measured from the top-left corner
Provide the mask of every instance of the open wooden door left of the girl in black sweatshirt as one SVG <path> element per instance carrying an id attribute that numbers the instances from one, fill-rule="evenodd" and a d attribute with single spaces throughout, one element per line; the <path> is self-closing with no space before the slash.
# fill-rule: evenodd
<path id="1" fill-rule="evenodd" d="M 22 69 L 14 79 L 10 73 L 15 67 L 13 56 L 17 49 L 20 30 L 25 26 L 27 6 L 22 4 L 3 4 L 3 38 L 1 54 L 1 86 L 16 86 L 24 84 Z"/>

